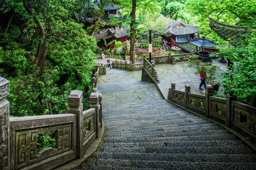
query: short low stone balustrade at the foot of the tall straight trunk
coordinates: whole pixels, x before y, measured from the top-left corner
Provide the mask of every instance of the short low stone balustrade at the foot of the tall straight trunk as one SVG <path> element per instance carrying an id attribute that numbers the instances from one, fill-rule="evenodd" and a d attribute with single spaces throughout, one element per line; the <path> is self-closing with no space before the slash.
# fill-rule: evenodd
<path id="1" fill-rule="evenodd" d="M 128 61 L 113 61 L 112 68 L 118 68 L 129 71 L 136 71 L 142 69 L 143 63 L 133 64 L 132 62 L 128 63 Z"/>

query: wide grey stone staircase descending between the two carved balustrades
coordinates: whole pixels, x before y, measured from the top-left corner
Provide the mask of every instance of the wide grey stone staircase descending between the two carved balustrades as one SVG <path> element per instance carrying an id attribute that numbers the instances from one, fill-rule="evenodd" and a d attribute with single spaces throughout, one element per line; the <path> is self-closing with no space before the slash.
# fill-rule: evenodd
<path id="1" fill-rule="evenodd" d="M 123 87 L 127 81 L 118 84 Z M 109 84 L 99 86 L 101 93 Z M 145 89 L 149 84 L 136 86 Z M 122 92 L 128 95 L 134 88 Z M 113 93 L 105 90 L 103 95 Z M 170 102 L 151 99 L 103 105 L 104 143 L 82 170 L 256 170 L 256 154 L 228 130 Z"/>

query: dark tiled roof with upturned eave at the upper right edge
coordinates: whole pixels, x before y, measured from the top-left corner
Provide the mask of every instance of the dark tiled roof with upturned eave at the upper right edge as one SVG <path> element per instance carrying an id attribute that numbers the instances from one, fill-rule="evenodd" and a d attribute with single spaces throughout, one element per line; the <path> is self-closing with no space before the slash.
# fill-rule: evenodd
<path id="1" fill-rule="evenodd" d="M 207 16 L 209 17 L 209 16 Z M 243 37 L 242 34 L 250 33 L 251 30 L 256 30 L 256 26 L 254 27 L 248 27 L 248 26 L 230 26 L 227 24 L 220 23 L 218 21 L 215 21 L 214 19 L 209 17 L 209 26 L 211 29 L 217 33 L 221 38 L 224 40 L 239 40 Z M 249 29 L 250 28 L 250 29 Z"/>

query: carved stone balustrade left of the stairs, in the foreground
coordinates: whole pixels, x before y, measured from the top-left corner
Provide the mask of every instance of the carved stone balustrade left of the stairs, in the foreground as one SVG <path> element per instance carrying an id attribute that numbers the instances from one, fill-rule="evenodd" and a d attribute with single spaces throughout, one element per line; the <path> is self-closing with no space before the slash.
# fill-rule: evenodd
<path id="1" fill-rule="evenodd" d="M 50 170 L 67 161 L 85 159 L 88 146 L 103 135 L 99 135 L 104 125 L 102 95 L 98 91 L 91 93 L 88 110 L 83 110 L 83 92 L 73 90 L 68 96 L 66 114 L 9 118 L 6 100 L 9 81 L 2 77 L 0 89 L 0 167 L 3 170 Z M 38 151 L 38 136 L 55 138 L 55 146 Z"/>

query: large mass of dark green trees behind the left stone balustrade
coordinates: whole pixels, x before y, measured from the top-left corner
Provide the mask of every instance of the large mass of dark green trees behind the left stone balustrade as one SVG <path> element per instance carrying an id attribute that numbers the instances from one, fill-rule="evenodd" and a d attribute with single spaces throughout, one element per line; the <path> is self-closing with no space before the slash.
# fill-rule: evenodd
<path id="1" fill-rule="evenodd" d="M 11 21 L 13 25 L 8 32 L 0 34 L 0 66 L 3 67 L 0 72 L 10 80 L 10 114 L 66 113 L 71 90 L 84 92 L 86 109 L 97 45 L 83 25 L 72 19 L 74 12 L 80 10 L 80 3 L 76 0 L 0 3 L 2 13 L 13 10 L 14 19 L 19 20 Z M 0 30 L 4 26 L 0 24 Z"/>

